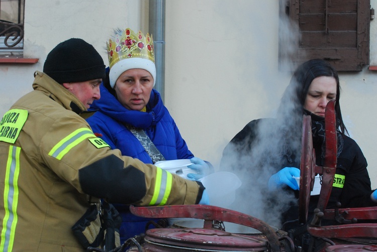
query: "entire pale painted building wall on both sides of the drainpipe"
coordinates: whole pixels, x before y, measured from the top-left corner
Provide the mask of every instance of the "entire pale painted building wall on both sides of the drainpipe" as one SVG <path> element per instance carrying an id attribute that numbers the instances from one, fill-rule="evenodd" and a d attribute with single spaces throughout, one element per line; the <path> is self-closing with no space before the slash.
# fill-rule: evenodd
<path id="1" fill-rule="evenodd" d="M 0 114 L 32 90 L 48 52 L 76 37 L 105 62 L 114 28 L 147 31 L 148 0 L 26 0 L 25 57 L 0 64 Z M 377 0 L 371 0 L 377 8 Z M 370 65 L 377 65 L 377 20 L 370 25 Z M 192 152 L 215 167 L 230 139 L 252 119 L 274 116 L 290 73 L 277 70 L 278 1 L 166 0 L 165 105 Z M 341 73 L 341 107 L 377 187 L 377 72 Z"/>

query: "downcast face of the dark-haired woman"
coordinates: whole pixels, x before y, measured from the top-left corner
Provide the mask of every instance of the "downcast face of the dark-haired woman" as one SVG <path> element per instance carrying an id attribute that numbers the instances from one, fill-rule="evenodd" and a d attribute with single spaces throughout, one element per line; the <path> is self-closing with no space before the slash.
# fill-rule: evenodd
<path id="1" fill-rule="evenodd" d="M 336 80 L 331 76 L 315 78 L 309 86 L 304 108 L 316 115 L 325 116 L 329 100 L 336 98 Z"/>

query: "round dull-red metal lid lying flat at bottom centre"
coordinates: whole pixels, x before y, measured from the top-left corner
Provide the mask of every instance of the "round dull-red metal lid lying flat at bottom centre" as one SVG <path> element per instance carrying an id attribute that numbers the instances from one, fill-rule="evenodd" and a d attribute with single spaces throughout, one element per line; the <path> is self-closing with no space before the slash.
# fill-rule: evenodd
<path id="1" fill-rule="evenodd" d="M 233 234 L 214 228 L 155 228 L 149 229 L 145 242 L 161 246 L 174 245 L 230 251 L 264 251 L 267 240 L 245 234 Z"/>

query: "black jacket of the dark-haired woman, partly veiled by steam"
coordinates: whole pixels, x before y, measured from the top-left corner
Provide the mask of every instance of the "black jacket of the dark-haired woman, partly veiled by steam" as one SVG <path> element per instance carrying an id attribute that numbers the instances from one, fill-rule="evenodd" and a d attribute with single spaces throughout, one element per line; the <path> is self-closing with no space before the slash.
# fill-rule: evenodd
<path id="1" fill-rule="evenodd" d="M 312 115 L 313 147 L 316 151 L 316 165 L 323 166 L 322 145 L 323 139 L 316 136 L 315 122 L 324 123 L 322 117 Z M 261 208 L 254 208 L 254 204 L 243 206 L 243 212 L 260 217 L 271 224 L 268 218 L 281 213 L 282 222 L 298 218 L 298 191 L 287 187 L 281 192 L 268 192 L 267 182 L 271 175 L 284 167 L 300 168 L 301 156 L 301 129 L 293 131 L 292 128 L 284 128 L 278 119 L 263 118 L 250 121 L 226 146 L 220 163 L 221 170 L 231 170 L 241 174 L 243 180 L 240 192 L 243 205 L 247 197 L 255 198 L 259 193 L 261 200 L 267 199 Z M 287 130 L 288 129 L 288 130 Z M 260 133 L 262 130 L 263 133 Z M 262 136 L 261 136 L 262 135 Z M 341 138 L 341 139 L 339 139 Z M 337 183 L 340 187 L 333 186 L 327 209 L 334 208 L 336 202 L 341 207 L 375 206 L 377 203 L 370 200 L 372 190 L 370 179 L 366 169 L 367 162 L 361 149 L 351 138 L 338 133 L 338 158 L 336 174 L 344 176 L 343 181 Z M 261 174 L 261 175 L 260 175 Z M 253 186 L 257 184 L 258 186 Z M 343 188 L 341 188 L 343 186 Z M 241 188 L 241 189 L 242 189 Z M 266 193 L 268 192 L 268 193 Z M 295 199 L 292 196 L 295 195 Z M 286 206 L 277 207 L 281 202 L 287 202 Z M 309 213 L 314 210 L 318 202 L 318 196 L 311 196 Z M 247 203 L 246 203 L 247 204 Z M 259 203 L 257 205 L 260 205 Z M 239 209 L 236 209 L 239 210 Z M 268 214 L 268 212 L 272 212 Z M 272 221 L 272 224 L 278 224 Z"/>

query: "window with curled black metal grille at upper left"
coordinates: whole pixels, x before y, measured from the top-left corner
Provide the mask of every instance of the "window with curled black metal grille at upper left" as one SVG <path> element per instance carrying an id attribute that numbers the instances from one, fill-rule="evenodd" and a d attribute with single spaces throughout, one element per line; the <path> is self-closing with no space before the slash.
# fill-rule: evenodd
<path id="1" fill-rule="evenodd" d="M 25 0 L 0 0 L 0 57 L 23 55 Z"/>

